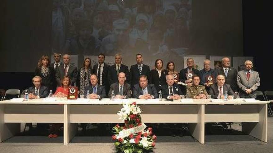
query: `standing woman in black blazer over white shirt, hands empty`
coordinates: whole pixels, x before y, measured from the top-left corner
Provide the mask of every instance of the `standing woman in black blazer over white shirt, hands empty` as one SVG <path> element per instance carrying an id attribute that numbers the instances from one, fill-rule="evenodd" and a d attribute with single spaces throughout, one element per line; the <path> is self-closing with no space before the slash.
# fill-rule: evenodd
<path id="1" fill-rule="evenodd" d="M 161 86 L 167 85 L 166 75 L 168 75 L 168 71 L 163 69 L 162 59 L 155 60 L 154 67 L 155 68 L 150 71 L 149 83 L 154 84 L 157 92 L 159 92 Z"/>

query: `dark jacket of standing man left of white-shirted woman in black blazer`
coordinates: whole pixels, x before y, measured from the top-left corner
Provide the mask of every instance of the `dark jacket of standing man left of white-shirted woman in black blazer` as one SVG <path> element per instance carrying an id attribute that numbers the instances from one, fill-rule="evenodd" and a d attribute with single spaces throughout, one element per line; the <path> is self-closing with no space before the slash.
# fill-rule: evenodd
<path id="1" fill-rule="evenodd" d="M 132 85 L 131 87 L 139 83 L 138 79 L 140 75 L 146 75 L 149 80 L 149 73 L 150 73 L 150 67 L 147 65 L 143 64 L 141 74 L 139 74 L 137 64 L 132 65 L 129 72 L 129 81 L 130 81 L 129 83 Z"/>

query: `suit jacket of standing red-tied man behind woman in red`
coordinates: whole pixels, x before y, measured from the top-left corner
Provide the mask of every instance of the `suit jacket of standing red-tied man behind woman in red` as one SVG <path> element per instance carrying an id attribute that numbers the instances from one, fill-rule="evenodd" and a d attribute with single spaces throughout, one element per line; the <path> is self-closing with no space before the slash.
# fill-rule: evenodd
<path id="1" fill-rule="evenodd" d="M 61 86 L 61 80 L 64 78 L 64 76 L 65 76 L 64 64 L 61 64 L 56 69 L 57 86 Z M 72 66 L 70 64 L 69 69 L 67 71 L 67 76 L 71 79 L 71 85 L 74 86 L 74 83 L 76 83 L 77 81 L 77 67 Z"/>

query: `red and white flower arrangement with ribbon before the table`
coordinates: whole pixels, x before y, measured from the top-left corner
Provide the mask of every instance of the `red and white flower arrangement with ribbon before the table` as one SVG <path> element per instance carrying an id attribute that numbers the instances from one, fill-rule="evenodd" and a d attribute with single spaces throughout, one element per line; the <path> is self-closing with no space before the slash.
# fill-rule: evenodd
<path id="1" fill-rule="evenodd" d="M 118 152 L 143 153 L 152 151 L 155 146 L 156 136 L 152 128 L 145 130 L 146 125 L 141 123 L 141 109 L 136 102 L 123 104 L 117 113 L 125 126 L 114 126 L 112 139 Z"/>

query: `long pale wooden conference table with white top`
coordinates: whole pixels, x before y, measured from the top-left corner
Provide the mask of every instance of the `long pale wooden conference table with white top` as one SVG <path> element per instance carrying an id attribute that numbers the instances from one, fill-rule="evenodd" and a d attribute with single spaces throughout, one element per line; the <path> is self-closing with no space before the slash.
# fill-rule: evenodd
<path id="1" fill-rule="evenodd" d="M 267 142 L 269 101 L 242 99 L 214 101 L 174 100 L 66 100 L 64 98 L 0 101 L 0 142 L 20 133 L 20 123 L 63 123 L 64 145 L 77 133 L 77 123 L 122 123 L 117 112 L 125 102 L 137 102 L 144 123 L 188 123 L 189 131 L 205 143 L 205 123 L 242 122 L 242 132 Z"/>

